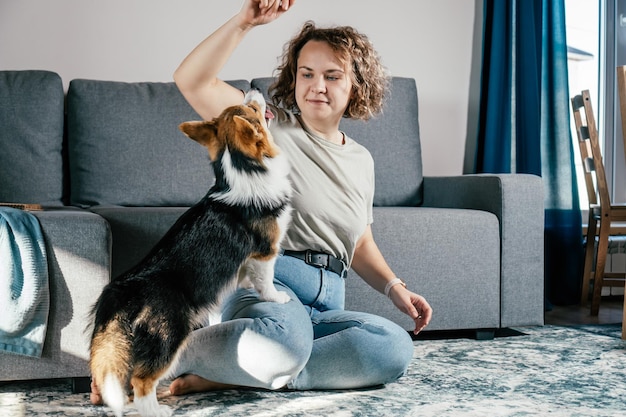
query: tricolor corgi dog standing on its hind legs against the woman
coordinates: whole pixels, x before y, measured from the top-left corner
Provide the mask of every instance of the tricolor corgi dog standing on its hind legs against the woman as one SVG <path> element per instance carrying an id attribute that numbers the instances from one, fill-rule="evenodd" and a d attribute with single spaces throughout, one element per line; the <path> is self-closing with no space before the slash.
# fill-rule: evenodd
<path id="1" fill-rule="evenodd" d="M 256 90 L 212 121 L 180 129 L 208 149 L 215 184 L 136 266 L 112 280 L 93 308 L 92 378 L 121 417 L 132 385 L 140 415 L 170 416 L 156 388 L 190 332 L 238 281 L 261 299 L 290 300 L 273 285 L 289 223 L 289 166 Z"/>

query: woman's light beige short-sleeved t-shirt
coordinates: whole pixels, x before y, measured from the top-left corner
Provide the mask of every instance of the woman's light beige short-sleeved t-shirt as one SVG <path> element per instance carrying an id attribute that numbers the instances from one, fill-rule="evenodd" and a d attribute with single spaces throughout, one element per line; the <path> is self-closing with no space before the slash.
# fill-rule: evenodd
<path id="1" fill-rule="evenodd" d="M 345 136 L 338 145 L 310 132 L 298 116 L 271 107 L 270 131 L 291 165 L 292 220 L 283 249 L 326 252 L 348 265 L 373 222 L 374 160 Z"/>

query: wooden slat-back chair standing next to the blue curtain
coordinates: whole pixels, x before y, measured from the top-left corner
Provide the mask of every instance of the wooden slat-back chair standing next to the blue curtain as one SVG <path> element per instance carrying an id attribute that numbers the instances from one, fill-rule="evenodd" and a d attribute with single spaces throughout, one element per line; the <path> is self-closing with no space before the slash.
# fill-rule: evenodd
<path id="1" fill-rule="evenodd" d="M 626 274 L 605 272 L 604 269 L 609 237 L 625 234 L 623 225 L 621 228 L 617 228 L 615 223 L 626 221 L 626 205 L 611 203 L 589 90 L 584 90 L 580 95 L 573 97 L 571 101 L 589 198 L 589 221 L 581 303 L 585 305 L 589 299 L 589 288 L 593 275 L 591 315 L 595 316 L 600 309 L 602 287 L 624 286 Z M 596 244 L 597 248 L 594 250 Z"/>

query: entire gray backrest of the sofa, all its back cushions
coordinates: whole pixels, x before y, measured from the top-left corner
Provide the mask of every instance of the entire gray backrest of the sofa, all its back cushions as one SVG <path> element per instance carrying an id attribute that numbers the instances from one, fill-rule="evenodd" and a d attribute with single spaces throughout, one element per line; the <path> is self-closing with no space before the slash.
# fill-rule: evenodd
<path id="1" fill-rule="evenodd" d="M 264 93 L 271 82 L 229 81 Z M 63 99 L 61 78 L 53 72 L 0 71 L 0 202 L 189 206 L 213 183 L 206 151 L 178 130 L 200 116 L 174 83 L 72 80 L 67 149 Z M 394 77 L 382 115 L 367 122 L 344 119 L 341 129 L 372 153 L 374 205 L 421 204 L 413 79 Z"/>

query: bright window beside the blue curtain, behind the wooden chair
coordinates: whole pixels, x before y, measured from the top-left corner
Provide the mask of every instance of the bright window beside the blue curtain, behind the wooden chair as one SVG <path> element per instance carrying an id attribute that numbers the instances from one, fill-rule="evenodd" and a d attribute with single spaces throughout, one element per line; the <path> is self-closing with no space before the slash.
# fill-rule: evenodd
<path id="1" fill-rule="evenodd" d="M 626 154 L 622 140 L 615 67 L 626 65 L 626 0 L 565 0 L 570 95 L 589 90 L 596 110 L 607 182 L 616 203 L 626 202 Z M 572 121 L 580 206 L 587 190 Z"/>

